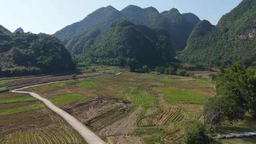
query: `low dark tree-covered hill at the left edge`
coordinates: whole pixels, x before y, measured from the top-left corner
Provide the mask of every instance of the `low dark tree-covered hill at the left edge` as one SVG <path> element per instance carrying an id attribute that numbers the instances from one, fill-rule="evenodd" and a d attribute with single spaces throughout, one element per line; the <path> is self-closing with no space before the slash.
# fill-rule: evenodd
<path id="1" fill-rule="evenodd" d="M 0 75 L 61 72 L 73 68 L 70 53 L 57 38 L 11 33 L 0 27 Z"/>

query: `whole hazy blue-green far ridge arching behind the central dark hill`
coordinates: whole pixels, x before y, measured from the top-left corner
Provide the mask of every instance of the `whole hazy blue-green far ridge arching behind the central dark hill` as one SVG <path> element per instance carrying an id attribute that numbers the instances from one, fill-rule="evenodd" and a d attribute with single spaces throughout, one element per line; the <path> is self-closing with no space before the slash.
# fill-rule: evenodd
<path id="1" fill-rule="evenodd" d="M 177 9 L 159 13 L 149 7 L 142 9 L 130 5 L 121 11 L 112 6 L 103 7 L 92 12 L 80 22 L 73 23 L 57 31 L 53 36 L 58 37 L 72 54 L 83 54 L 91 48 L 98 38 L 110 30 L 110 26 L 120 18 L 127 18 L 135 25 L 165 28 L 170 35 L 173 50 L 181 51 L 193 27 L 200 19 L 192 14 L 180 14 Z"/>

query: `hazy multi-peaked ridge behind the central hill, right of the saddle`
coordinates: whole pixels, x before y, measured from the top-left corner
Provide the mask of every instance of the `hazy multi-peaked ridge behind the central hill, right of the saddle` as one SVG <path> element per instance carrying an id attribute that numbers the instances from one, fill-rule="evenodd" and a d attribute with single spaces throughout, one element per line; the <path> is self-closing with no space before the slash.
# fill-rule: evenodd
<path id="1" fill-rule="evenodd" d="M 193 30 L 193 25 L 186 18 L 183 18 L 183 15 L 177 9 L 159 13 L 153 7 L 142 9 L 130 5 L 122 9 L 121 12 L 135 24 L 167 29 L 175 50 L 183 50 L 185 48 L 187 39 Z"/>

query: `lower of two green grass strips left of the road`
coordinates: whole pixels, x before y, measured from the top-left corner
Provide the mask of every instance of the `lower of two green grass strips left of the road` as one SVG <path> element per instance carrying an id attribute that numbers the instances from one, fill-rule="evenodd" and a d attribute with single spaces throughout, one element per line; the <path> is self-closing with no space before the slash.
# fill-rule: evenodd
<path id="1" fill-rule="evenodd" d="M 43 103 L 40 103 L 40 104 L 33 104 L 33 105 L 27 105 L 22 107 L 16 107 L 16 108 L 8 108 L 8 109 L 0 110 L 0 116 L 15 114 L 15 113 L 26 111 L 26 110 L 36 110 L 40 108 L 45 108 L 45 105 Z"/>

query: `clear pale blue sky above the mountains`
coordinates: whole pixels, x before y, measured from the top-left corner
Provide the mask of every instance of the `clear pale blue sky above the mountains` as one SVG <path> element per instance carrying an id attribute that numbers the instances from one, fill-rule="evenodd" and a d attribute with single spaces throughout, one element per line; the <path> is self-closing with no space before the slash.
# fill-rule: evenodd
<path id="1" fill-rule="evenodd" d="M 85 18 L 101 7 L 118 10 L 128 5 L 155 7 L 159 12 L 172 8 L 192 12 L 216 25 L 219 18 L 242 0 L 0 0 L 0 25 L 15 31 L 54 34 L 63 27 Z"/>

